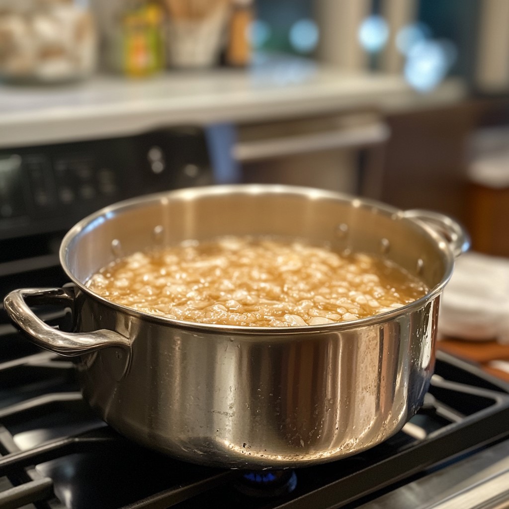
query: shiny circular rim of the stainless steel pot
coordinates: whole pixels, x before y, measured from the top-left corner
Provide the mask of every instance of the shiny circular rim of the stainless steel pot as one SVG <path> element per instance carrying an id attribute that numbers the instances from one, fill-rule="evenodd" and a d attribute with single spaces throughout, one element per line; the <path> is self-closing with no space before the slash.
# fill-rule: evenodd
<path id="1" fill-rule="evenodd" d="M 240 326 L 240 325 L 219 325 L 219 324 L 208 324 L 200 322 L 186 322 L 184 320 L 177 320 L 164 316 L 152 315 L 146 312 L 142 312 L 122 304 L 118 304 L 111 300 L 108 300 L 101 295 L 96 294 L 90 290 L 85 284 L 75 277 L 72 271 L 69 269 L 66 263 L 66 255 L 69 249 L 69 245 L 81 232 L 92 230 L 98 223 L 107 221 L 108 218 L 113 217 L 116 213 L 132 210 L 149 203 L 160 202 L 164 204 L 169 199 L 176 198 L 180 200 L 192 200 L 197 196 L 211 196 L 221 194 L 294 194 L 310 197 L 312 199 L 329 199 L 334 201 L 348 202 L 352 207 L 361 207 L 371 209 L 373 213 L 382 213 L 389 216 L 392 220 L 403 220 L 412 224 L 414 228 L 421 231 L 422 234 L 430 237 L 436 244 L 444 257 L 445 271 L 441 281 L 435 285 L 430 291 L 420 297 L 419 299 L 405 304 L 401 307 L 393 310 L 379 313 L 370 317 L 359 318 L 356 320 L 350 320 L 345 322 L 334 322 L 321 325 L 301 325 L 292 327 L 256 327 L 256 326 Z M 310 187 L 282 185 L 282 184 L 226 184 L 226 185 L 212 185 L 212 186 L 200 186 L 193 188 L 173 189 L 168 191 L 162 191 L 158 193 L 146 194 L 143 196 L 137 196 L 128 200 L 116 202 L 108 205 L 87 217 L 84 217 L 78 221 L 64 236 L 60 245 L 59 251 L 60 263 L 67 276 L 71 279 L 74 285 L 76 285 L 82 292 L 89 295 L 101 303 L 112 307 L 124 314 L 143 319 L 144 321 L 150 321 L 158 324 L 167 324 L 185 329 L 194 329 L 199 331 L 209 331 L 217 333 L 220 331 L 235 334 L 246 334 L 246 335 L 301 335 L 308 334 L 310 332 L 344 332 L 347 330 L 376 325 L 382 322 L 387 322 L 399 316 L 405 315 L 414 309 L 425 306 L 425 304 L 437 297 L 444 289 L 448 280 L 450 279 L 454 269 L 454 254 L 451 251 L 450 246 L 446 240 L 434 231 L 427 224 L 405 216 L 405 212 L 401 209 L 386 205 L 376 200 L 367 199 L 347 193 L 327 191 L 322 189 L 315 189 Z"/>

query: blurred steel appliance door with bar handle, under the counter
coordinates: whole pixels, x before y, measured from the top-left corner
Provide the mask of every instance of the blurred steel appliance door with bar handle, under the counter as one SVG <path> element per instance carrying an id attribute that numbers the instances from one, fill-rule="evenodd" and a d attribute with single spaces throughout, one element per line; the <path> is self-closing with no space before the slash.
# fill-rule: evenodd
<path id="1" fill-rule="evenodd" d="M 381 197 L 389 128 L 376 112 L 240 124 L 233 129 L 229 152 L 236 181 Z"/>

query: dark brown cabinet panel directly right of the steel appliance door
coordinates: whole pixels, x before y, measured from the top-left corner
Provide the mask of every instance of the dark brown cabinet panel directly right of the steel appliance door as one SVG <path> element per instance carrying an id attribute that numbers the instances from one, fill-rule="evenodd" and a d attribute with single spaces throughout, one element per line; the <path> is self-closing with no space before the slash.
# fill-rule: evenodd
<path id="1" fill-rule="evenodd" d="M 426 208 L 465 221 L 466 148 L 474 128 L 470 101 L 387 116 L 382 200 L 402 209 Z"/>

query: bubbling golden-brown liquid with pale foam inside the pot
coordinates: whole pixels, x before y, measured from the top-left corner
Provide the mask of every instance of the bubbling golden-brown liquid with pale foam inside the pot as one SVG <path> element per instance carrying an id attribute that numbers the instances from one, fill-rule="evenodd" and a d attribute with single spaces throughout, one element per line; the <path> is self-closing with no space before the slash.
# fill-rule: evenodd
<path id="1" fill-rule="evenodd" d="M 422 281 L 378 257 L 266 237 L 136 252 L 101 269 L 87 286 L 145 313 L 246 327 L 357 320 L 428 292 Z"/>

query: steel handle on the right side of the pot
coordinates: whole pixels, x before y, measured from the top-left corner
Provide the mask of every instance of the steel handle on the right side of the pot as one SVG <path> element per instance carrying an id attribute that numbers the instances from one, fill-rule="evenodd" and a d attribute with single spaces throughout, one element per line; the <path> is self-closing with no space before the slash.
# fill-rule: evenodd
<path id="1" fill-rule="evenodd" d="M 411 209 L 403 212 L 403 217 L 423 222 L 440 234 L 448 242 L 455 258 L 470 248 L 470 236 L 467 231 L 459 222 L 445 214 L 431 210 Z"/>

